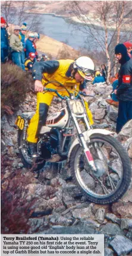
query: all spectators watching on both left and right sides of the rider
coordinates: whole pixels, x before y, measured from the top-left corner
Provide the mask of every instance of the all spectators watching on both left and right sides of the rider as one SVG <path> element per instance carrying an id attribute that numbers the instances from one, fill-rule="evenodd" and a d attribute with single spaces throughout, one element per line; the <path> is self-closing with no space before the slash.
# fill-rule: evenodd
<path id="1" fill-rule="evenodd" d="M 14 26 L 11 35 L 7 32 L 7 22 L 1 17 L 1 63 L 11 60 L 23 71 L 32 72 L 34 62 L 45 62 L 48 56 L 37 53 L 36 42 L 39 40 L 39 33 L 27 35 L 27 24 Z M 27 37 L 26 37 L 27 35 Z M 122 126 L 132 119 L 132 43 L 124 42 L 115 47 L 115 57 L 121 64 L 118 73 L 109 78 L 113 91 L 111 97 L 106 99 L 110 105 L 118 107 L 117 133 Z M 95 68 L 92 84 L 105 83 L 107 80 L 107 67 L 102 64 Z"/>

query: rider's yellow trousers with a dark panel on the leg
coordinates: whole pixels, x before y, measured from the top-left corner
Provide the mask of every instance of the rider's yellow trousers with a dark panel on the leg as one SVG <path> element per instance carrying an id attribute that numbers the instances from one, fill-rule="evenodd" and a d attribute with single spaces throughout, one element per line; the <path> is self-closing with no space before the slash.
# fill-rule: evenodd
<path id="1" fill-rule="evenodd" d="M 48 86 L 48 88 L 50 88 L 50 86 Z M 52 86 L 52 89 L 58 90 L 58 93 L 62 96 L 68 96 L 67 92 L 64 89 L 61 90 L 60 87 Z M 30 120 L 29 128 L 27 130 L 27 141 L 33 143 L 37 142 L 37 137 L 41 127 L 45 125 L 48 109 L 54 96 L 56 96 L 55 93 L 37 93 L 36 113 Z"/>

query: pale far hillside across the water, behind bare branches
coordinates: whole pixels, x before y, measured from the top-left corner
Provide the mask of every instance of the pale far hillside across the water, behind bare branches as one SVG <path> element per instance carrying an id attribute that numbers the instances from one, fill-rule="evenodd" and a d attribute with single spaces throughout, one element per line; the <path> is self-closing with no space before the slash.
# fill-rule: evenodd
<path id="1" fill-rule="evenodd" d="M 54 14 L 55 16 L 67 17 L 75 23 L 84 23 L 89 25 L 95 25 L 97 27 L 103 27 L 103 23 L 101 22 L 101 13 L 97 11 L 99 8 L 98 1 L 78 1 L 79 8 L 81 8 L 81 11 L 83 10 L 83 13 L 80 14 L 80 17 L 76 17 L 75 14 L 78 8 L 76 11 L 72 10 L 70 4 L 68 4 L 68 1 L 34 1 L 34 4 L 35 5 L 30 13 Z M 131 1 L 129 1 L 129 7 L 131 10 Z M 108 19 L 108 28 L 116 29 L 116 16 L 115 13 L 112 13 L 112 11 L 114 10 L 111 10 L 111 15 L 109 15 L 109 18 L 106 17 L 106 19 Z M 122 29 L 127 29 L 128 31 L 130 31 L 131 17 L 129 15 L 128 17 L 125 17 L 125 14 L 128 14 L 127 6 L 124 8 L 125 21 Z M 121 10 L 118 10 L 118 15 L 121 15 Z"/>

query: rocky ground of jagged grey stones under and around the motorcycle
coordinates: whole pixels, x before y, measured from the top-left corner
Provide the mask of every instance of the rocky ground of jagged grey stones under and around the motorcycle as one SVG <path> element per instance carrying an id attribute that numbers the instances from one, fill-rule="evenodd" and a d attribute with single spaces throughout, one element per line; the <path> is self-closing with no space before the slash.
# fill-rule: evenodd
<path id="1" fill-rule="evenodd" d="M 95 93 L 94 99 L 89 98 L 90 109 L 95 120 L 94 127 L 115 131 L 117 108 L 109 106 L 105 101 L 112 87 L 104 83 L 88 86 L 91 93 Z M 36 95 L 30 93 L 19 111 L 10 117 L 4 115 L 1 119 L 2 193 L 7 194 L 11 191 L 12 202 L 16 197 L 15 193 L 21 193 L 19 199 L 21 204 L 18 206 L 18 203 L 12 203 L 14 208 L 8 211 L 15 210 L 15 207 L 18 207 L 20 211 L 23 206 L 21 200 L 26 200 L 26 207 L 28 210 L 30 208 L 28 220 L 19 232 L 26 233 L 27 230 L 29 234 L 35 232 L 103 233 L 105 234 L 105 256 L 132 255 L 131 186 L 117 203 L 105 206 L 96 205 L 87 202 L 86 197 L 74 185 L 70 170 L 65 163 L 59 165 L 46 163 L 40 173 L 26 169 L 21 163 L 17 148 L 17 130 L 13 127 L 14 121 L 18 113 L 35 111 L 35 108 Z M 58 108 L 59 105 L 53 103 L 50 111 L 56 111 Z M 122 129 L 117 138 L 124 145 L 132 160 L 131 130 L 132 120 Z M 18 192 L 21 184 L 22 189 Z M 14 216 L 13 213 L 12 216 Z M 8 217 L 5 216 L 6 218 Z M 4 232 L 9 233 L 9 228 L 6 227 Z"/>

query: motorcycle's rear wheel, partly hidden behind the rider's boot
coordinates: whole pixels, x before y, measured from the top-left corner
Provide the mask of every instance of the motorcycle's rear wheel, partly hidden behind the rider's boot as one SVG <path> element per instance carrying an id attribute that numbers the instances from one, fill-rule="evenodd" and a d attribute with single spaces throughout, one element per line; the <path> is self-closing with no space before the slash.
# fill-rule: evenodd
<path id="1" fill-rule="evenodd" d="M 19 153 L 21 161 L 23 162 L 24 167 L 32 168 L 34 171 L 42 169 L 45 166 L 46 161 L 40 159 L 32 160 L 32 157 L 28 155 L 28 145 L 27 142 L 23 140 L 23 131 L 18 130 L 17 143 L 19 148 Z"/>

